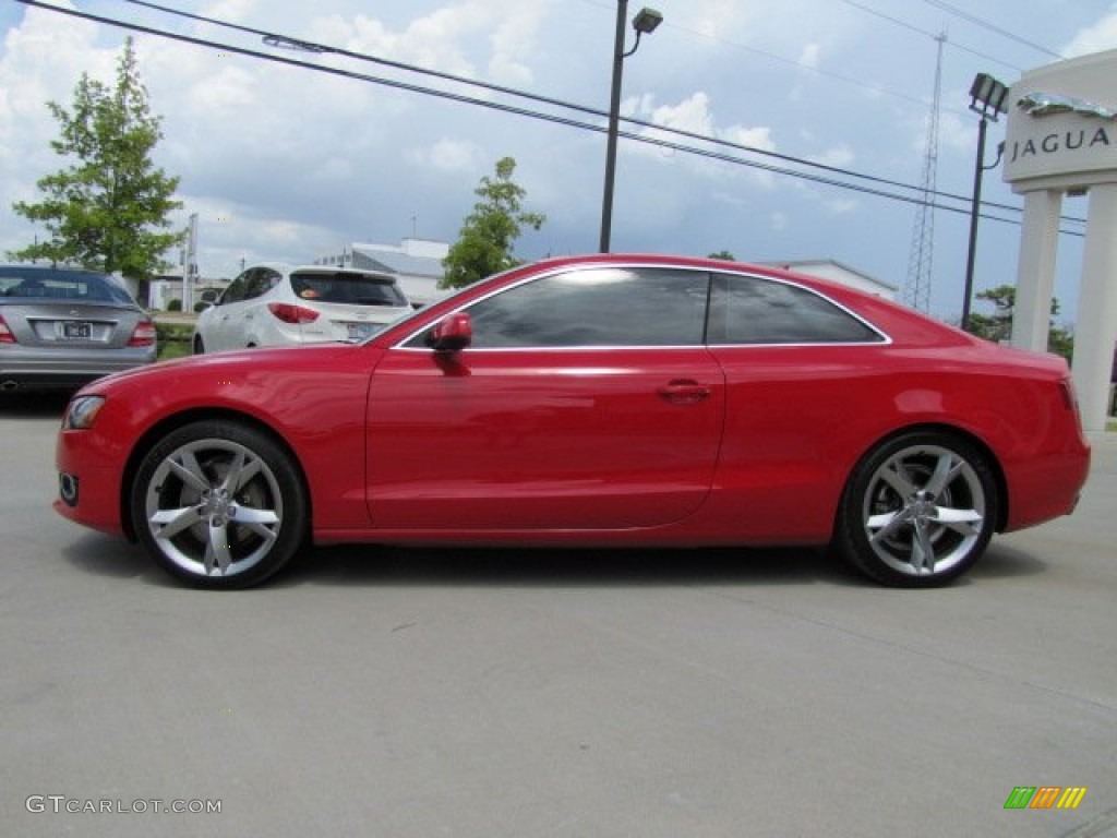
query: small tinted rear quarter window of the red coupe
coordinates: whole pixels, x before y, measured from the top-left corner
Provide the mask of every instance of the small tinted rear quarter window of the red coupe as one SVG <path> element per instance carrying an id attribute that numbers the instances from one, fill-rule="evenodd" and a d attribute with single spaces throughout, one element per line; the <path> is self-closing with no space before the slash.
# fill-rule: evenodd
<path id="1" fill-rule="evenodd" d="M 878 343 L 884 339 L 829 299 L 796 285 L 717 274 L 712 344 Z"/>

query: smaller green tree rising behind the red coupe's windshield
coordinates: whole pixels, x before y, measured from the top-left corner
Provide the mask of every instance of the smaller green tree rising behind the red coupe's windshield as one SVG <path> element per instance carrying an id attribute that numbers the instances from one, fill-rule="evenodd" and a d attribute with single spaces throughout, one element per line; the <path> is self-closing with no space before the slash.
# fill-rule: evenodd
<path id="1" fill-rule="evenodd" d="M 513 244 L 524 226 L 537 230 L 546 217 L 522 209 L 527 193 L 513 181 L 515 170 L 515 160 L 502 158 L 496 163 L 496 177 L 481 178 L 480 185 L 474 190 L 481 200 L 466 216 L 458 240 L 442 259 L 446 275 L 439 287 L 464 288 L 521 264 L 512 251 Z"/>

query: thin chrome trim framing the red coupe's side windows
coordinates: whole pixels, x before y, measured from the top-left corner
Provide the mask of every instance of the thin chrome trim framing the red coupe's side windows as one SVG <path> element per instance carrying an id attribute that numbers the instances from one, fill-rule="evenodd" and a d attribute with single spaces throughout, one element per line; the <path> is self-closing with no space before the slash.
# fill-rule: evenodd
<path id="1" fill-rule="evenodd" d="M 468 347 L 470 354 L 475 352 L 619 352 L 623 350 L 680 350 L 680 349 L 703 349 L 703 350 L 715 350 L 715 349 L 774 349 L 774 347 L 806 347 L 806 346 L 890 346 L 892 344 L 891 335 L 887 334 L 882 330 L 878 328 L 875 324 L 867 321 L 865 317 L 859 315 L 857 312 L 851 311 L 847 306 L 842 305 L 832 297 L 823 294 L 822 292 L 811 288 L 806 285 L 801 285 L 791 279 L 784 279 L 782 277 L 766 276 L 764 274 L 756 274 L 750 270 L 733 270 L 725 268 L 706 268 L 697 267 L 694 265 L 671 265 L 668 263 L 643 263 L 643 261 L 608 261 L 608 263 L 590 263 L 585 265 L 563 265 L 561 267 L 554 267 L 550 270 L 544 270 L 538 274 L 533 274 L 531 276 L 524 277 L 512 285 L 505 285 L 500 288 L 496 288 L 488 294 L 484 294 L 479 297 L 470 299 L 468 304 L 457 306 L 455 308 L 446 312 L 442 317 L 449 317 L 451 314 L 457 314 L 458 312 L 467 311 L 470 306 L 489 299 L 497 294 L 504 294 L 505 292 L 512 291 L 513 288 L 518 288 L 521 285 L 526 285 L 527 283 L 533 283 L 537 279 L 545 279 L 550 276 L 555 276 L 556 274 L 565 274 L 571 270 L 576 270 L 581 268 L 620 268 L 620 269 L 636 269 L 636 268 L 661 268 L 666 270 L 679 270 L 679 272 L 699 272 L 703 274 L 709 274 L 712 277 L 714 274 L 725 274 L 728 276 L 743 276 L 751 279 L 760 279 L 762 282 L 779 283 L 780 285 L 786 285 L 798 291 L 805 291 L 814 296 L 819 297 L 825 303 L 834 306 L 841 312 L 844 312 L 848 316 L 856 320 L 858 323 L 863 325 L 873 334 L 880 337 L 879 341 L 850 341 L 850 342 L 834 342 L 834 341 L 810 341 L 805 343 L 708 343 L 704 342 L 700 344 L 681 344 L 681 345 L 663 345 L 663 344 L 646 344 L 646 345 L 590 345 L 590 346 L 478 346 Z M 461 292 L 465 292 L 462 288 Z M 856 291 L 856 289 L 855 289 Z M 459 293 L 461 293 L 459 292 Z M 421 311 L 421 310 L 420 310 Z M 416 316 L 419 312 L 416 313 Z M 409 332 L 405 337 L 392 344 L 391 350 L 398 350 L 400 352 L 431 352 L 432 350 L 428 346 L 407 346 L 408 342 L 414 340 L 420 334 L 426 332 L 428 328 L 438 321 L 428 323 L 422 328 L 417 328 L 413 332 Z"/>

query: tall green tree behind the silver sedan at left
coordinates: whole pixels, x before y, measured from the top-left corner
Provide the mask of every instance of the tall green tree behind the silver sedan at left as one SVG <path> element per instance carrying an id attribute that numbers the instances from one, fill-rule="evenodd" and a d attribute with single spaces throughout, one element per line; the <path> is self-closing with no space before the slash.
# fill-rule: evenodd
<path id="1" fill-rule="evenodd" d="M 49 239 L 9 254 L 49 259 L 145 278 L 165 269 L 162 255 L 182 240 L 168 232 L 178 178 L 156 169 L 151 151 L 162 139 L 161 120 L 147 107 L 132 39 L 116 67 L 112 88 L 82 74 L 70 109 L 50 102 L 60 136 L 50 146 L 69 161 L 38 181 L 44 200 L 17 201 L 12 209 L 41 223 Z"/>

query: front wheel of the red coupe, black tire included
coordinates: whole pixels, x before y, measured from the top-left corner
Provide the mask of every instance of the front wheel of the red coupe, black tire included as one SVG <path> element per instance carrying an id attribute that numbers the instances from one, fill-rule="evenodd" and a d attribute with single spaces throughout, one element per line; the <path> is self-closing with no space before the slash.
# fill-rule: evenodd
<path id="1" fill-rule="evenodd" d="M 262 581 L 306 533 L 306 501 L 289 456 L 229 421 L 168 435 L 144 457 L 132 491 L 144 546 L 170 573 L 207 588 Z"/>

